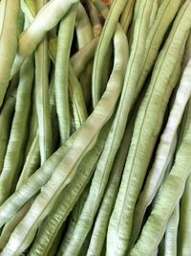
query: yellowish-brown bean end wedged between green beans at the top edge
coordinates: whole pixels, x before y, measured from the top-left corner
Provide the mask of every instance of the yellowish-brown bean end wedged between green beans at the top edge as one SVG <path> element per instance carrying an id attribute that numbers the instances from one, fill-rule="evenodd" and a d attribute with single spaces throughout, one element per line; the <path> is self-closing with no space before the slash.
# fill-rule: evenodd
<path id="1" fill-rule="evenodd" d="M 129 0 L 120 16 L 120 25 L 126 33 L 133 17 L 135 2 L 136 0 Z"/>

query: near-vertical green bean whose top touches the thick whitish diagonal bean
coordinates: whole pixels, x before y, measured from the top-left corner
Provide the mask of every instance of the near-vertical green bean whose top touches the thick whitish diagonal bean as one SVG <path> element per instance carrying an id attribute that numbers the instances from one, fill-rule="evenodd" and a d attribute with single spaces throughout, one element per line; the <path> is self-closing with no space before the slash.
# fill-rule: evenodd
<path id="1" fill-rule="evenodd" d="M 62 144 L 69 138 L 71 133 L 68 73 L 75 14 L 76 6 L 60 22 L 55 61 L 55 103 Z"/>

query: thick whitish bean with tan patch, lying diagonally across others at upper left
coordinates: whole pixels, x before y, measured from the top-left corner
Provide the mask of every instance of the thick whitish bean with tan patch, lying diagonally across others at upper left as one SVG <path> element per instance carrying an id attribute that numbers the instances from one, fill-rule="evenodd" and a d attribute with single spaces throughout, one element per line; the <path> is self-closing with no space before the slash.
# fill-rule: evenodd
<path id="1" fill-rule="evenodd" d="M 11 69 L 11 77 L 19 70 L 24 59 L 32 54 L 46 33 L 78 2 L 79 0 L 51 0 L 37 13 L 29 28 L 19 36 L 18 53 Z M 50 16 L 53 18 L 50 19 Z"/>

